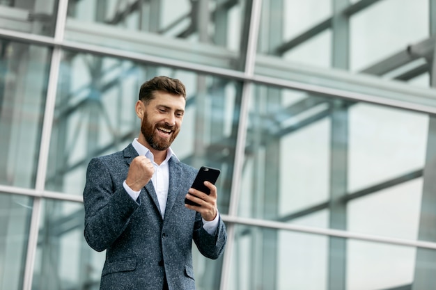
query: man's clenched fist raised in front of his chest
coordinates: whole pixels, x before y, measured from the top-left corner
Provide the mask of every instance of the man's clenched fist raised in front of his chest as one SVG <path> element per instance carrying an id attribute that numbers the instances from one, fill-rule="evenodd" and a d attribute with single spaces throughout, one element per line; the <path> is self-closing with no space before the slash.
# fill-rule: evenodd
<path id="1" fill-rule="evenodd" d="M 153 163 L 146 156 L 137 156 L 130 163 L 125 182 L 133 191 L 140 191 L 155 173 Z"/>

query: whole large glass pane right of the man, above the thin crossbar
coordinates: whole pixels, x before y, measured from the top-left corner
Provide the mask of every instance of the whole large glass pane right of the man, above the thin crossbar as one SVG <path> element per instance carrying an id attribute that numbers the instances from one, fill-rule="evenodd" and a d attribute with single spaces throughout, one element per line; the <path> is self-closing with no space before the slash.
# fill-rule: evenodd
<path id="1" fill-rule="evenodd" d="M 428 115 L 253 91 L 238 215 L 301 224 L 328 209 L 325 222 L 304 225 L 421 239 Z"/>

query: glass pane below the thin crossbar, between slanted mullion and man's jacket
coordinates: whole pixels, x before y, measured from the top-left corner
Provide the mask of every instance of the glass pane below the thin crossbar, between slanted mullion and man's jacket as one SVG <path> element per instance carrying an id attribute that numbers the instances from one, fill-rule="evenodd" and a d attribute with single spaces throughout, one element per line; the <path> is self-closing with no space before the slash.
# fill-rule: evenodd
<path id="1" fill-rule="evenodd" d="M 94 289 L 100 286 L 104 252 L 84 239 L 80 202 L 44 200 L 32 289 Z"/>

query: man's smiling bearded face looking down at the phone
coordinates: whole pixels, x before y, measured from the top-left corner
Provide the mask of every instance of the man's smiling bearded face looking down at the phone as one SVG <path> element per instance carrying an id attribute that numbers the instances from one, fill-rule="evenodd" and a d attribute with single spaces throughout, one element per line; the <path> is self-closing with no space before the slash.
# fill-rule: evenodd
<path id="1" fill-rule="evenodd" d="M 139 143 L 153 151 L 166 151 L 176 139 L 185 113 L 185 98 L 168 92 L 155 91 L 154 98 L 137 102 L 137 115 L 141 118 Z"/>

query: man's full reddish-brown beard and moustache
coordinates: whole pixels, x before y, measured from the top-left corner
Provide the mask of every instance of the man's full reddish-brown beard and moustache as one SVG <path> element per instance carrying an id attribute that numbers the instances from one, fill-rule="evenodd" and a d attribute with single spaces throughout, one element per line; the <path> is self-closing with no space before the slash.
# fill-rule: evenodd
<path id="1" fill-rule="evenodd" d="M 157 134 L 155 134 L 155 131 L 158 130 L 157 128 L 159 127 L 170 129 L 172 131 L 171 136 L 169 138 L 161 138 L 160 136 L 157 136 Z M 177 128 L 176 126 L 168 126 L 164 122 L 155 125 L 150 124 L 150 122 L 148 122 L 147 113 L 144 113 L 141 122 L 141 133 L 146 139 L 148 145 L 150 145 L 150 147 L 152 147 L 154 150 L 167 150 L 173 143 L 173 140 L 176 139 L 179 131 L 180 128 Z"/>

